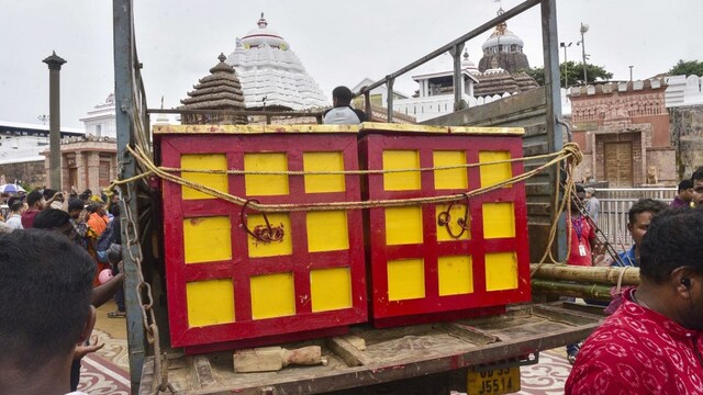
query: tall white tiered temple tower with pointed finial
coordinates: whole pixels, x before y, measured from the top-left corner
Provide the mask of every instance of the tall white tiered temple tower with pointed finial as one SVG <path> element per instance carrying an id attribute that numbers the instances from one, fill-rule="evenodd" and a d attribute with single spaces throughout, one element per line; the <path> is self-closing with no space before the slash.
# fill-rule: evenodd
<path id="1" fill-rule="evenodd" d="M 306 110 L 328 106 L 317 82 L 308 75 L 290 45 L 268 27 L 264 13 L 227 57 L 244 90 L 247 109 Z"/>

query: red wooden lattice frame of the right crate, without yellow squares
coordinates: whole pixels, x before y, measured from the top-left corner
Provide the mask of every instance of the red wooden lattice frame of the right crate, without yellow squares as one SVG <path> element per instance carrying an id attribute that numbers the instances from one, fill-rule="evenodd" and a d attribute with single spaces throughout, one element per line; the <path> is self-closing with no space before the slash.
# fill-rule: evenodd
<path id="1" fill-rule="evenodd" d="M 501 150 L 510 151 L 511 158 L 522 157 L 521 136 L 470 136 L 470 135 L 412 135 L 389 136 L 369 134 L 360 142 L 359 150 L 362 155 L 362 166 L 368 169 L 382 168 L 382 153 L 388 149 L 417 150 L 420 167 L 433 167 L 434 150 L 464 150 L 467 163 L 479 162 L 479 151 Z M 469 191 L 480 188 L 479 167 L 467 168 Z M 512 163 L 512 173 L 521 174 L 523 163 Z M 462 193 L 464 190 L 434 189 L 432 171 L 421 173 L 421 189 L 414 191 L 384 191 L 383 176 L 368 177 L 368 191 L 365 199 L 412 199 L 423 196 Z M 484 239 L 482 204 L 486 202 L 513 202 L 515 215 L 515 237 L 500 239 Z M 461 203 L 461 202 L 458 202 Z M 372 317 L 377 327 L 394 326 L 398 323 L 411 324 L 426 321 L 423 315 L 435 314 L 438 319 L 451 319 L 486 313 L 501 313 L 501 309 L 486 309 L 483 307 L 501 306 L 509 303 L 531 300 L 529 285 L 529 253 L 527 240 L 527 211 L 525 206 L 525 187 L 523 182 L 512 188 L 500 189 L 470 199 L 471 238 L 469 240 L 437 241 L 436 205 L 422 206 L 424 240 L 421 245 L 386 245 L 384 208 L 371 208 L 366 221 L 370 229 L 375 229 L 375 237 L 370 244 L 370 289 L 372 295 Z M 517 289 L 491 291 L 486 290 L 484 255 L 487 252 L 514 251 L 517 258 L 518 281 Z M 437 258 L 470 253 L 472 257 L 473 292 L 462 295 L 438 295 Z M 402 258 L 423 258 L 425 272 L 425 297 L 388 301 L 387 262 Z M 481 309 L 482 308 L 482 309 Z M 472 314 L 469 309 L 472 309 Z M 464 311 L 464 312 L 461 312 Z M 442 312 L 456 314 L 442 315 Z M 403 318 L 404 317 L 404 318 Z M 402 318 L 402 319 L 401 319 Z"/>

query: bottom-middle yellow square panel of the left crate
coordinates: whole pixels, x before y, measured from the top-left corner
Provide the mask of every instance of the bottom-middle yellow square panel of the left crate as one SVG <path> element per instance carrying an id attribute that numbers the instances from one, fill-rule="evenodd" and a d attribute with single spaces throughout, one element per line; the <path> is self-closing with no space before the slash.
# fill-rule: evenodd
<path id="1" fill-rule="evenodd" d="M 295 314 L 293 273 L 253 276 L 250 285 L 252 318 L 264 319 Z"/>

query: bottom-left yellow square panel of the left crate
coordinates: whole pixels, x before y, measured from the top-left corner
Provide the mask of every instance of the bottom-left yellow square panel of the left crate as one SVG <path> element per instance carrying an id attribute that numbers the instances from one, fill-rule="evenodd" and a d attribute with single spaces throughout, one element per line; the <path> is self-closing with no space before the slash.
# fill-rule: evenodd
<path id="1" fill-rule="evenodd" d="M 188 326 L 191 328 L 234 323 L 234 287 L 231 279 L 186 284 Z"/>

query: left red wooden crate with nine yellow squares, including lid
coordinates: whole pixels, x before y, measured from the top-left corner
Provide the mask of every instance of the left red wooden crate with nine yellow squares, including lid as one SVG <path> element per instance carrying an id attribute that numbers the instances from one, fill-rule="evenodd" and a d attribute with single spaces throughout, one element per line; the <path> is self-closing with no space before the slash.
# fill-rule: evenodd
<path id="1" fill-rule="evenodd" d="M 358 176 L 286 173 L 357 170 L 357 132 L 309 125 L 154 129 L 161 166 L 244 170 L 180 176 L 261 204 L 359 201 Z M 200 352 L 260 345 L 367 320 L 361 211 L 265 215 L 167 181 L 163 195 L 174 347 Z"/>

